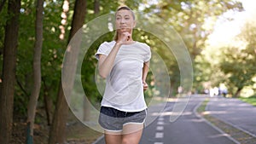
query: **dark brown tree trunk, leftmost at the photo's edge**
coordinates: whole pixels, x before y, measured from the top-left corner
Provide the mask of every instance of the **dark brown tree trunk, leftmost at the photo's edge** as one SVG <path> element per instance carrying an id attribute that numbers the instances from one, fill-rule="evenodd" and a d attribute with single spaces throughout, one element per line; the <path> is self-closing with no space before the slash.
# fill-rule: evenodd
<path id="1" fill-rule="evenodd" d="M 0 143 L 9 144 L 12 135 L 15 67 L 18 46 L 20 0 L 9 0 L 10 19 L 5 27 L 3 48 L 3 83 L 0 88 Z"/>

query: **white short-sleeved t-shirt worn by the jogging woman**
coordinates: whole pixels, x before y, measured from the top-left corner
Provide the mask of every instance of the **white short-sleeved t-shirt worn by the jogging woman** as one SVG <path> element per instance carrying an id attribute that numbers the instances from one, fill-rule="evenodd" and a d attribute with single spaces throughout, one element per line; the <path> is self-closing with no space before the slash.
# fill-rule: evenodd
<path id="1" fill-rule="evenodd" d="M 108 55 L 116 42 L 104 42 L 96 52 Z M 113 69 L 106 79 L 102 106 L 125 112 L 139 112 L 147 108 L 143 94 L 143 63 L 151 58 L 146 43 L 122 45 L 114 60 Z"/>

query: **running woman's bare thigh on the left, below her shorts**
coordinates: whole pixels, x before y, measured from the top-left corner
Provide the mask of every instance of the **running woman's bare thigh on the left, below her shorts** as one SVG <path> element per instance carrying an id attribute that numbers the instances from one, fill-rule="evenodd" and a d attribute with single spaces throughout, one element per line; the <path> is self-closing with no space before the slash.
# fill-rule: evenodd
<path id="1" fill-rule="evenodd" d="M 109 132 L 105 130 L 105 142 L 106 144 L 121 144 L 122 135 L 121 132 Z"/>

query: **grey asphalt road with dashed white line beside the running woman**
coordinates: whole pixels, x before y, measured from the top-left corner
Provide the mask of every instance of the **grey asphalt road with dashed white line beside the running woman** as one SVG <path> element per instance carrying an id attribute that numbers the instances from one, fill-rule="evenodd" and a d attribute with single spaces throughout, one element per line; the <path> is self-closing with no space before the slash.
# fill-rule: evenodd
<path id="1" fill-rule="evenodd" d="M 155 115 L 154 109 L 150 107 L 148 118 L 154 119 L 143 130 L 140 144 L 235 144 L 228 135 L 212 127 L 203 118 L 195 113 L 205 97 L 192 96 L 183 114 L 176 121 L 170 122 L 172 107 L 175 102 L 167 102 L 165 110 Z M 104 144 L 103 138 L 95 144 Z"/>

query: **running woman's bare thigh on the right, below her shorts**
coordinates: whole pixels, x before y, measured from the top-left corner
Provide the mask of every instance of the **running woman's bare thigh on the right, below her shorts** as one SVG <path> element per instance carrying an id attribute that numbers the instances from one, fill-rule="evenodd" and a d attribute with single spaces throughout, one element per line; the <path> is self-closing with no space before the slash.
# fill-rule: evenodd
<path id="1" fill-rule="evenodd" d="M 122 144 L 138 144 L 143 135 L 143 124 L 125 124 Z"/>

